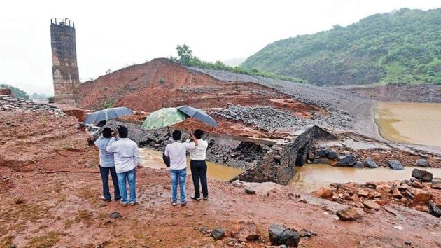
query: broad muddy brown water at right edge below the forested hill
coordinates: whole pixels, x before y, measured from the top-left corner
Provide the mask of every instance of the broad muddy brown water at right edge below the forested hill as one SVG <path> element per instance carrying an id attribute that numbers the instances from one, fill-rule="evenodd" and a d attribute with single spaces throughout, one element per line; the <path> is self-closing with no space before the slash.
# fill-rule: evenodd
<path id="1" fill-rule="evenodd" d="M 441 146 L 441 104 L 377 102 L 375 122 L 393 142 Z"/>

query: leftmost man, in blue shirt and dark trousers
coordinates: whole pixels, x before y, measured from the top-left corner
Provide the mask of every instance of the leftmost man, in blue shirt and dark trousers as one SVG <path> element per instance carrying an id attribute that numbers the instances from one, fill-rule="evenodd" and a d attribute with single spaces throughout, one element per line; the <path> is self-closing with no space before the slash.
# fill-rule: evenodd
<path id="1" fill-rule="evenodd" d="M 111 128 L 104 128 L 102 137 L 99 137 L 95 141 L 95 146 L 97 146 L 97 148 L 99 149 L 99 172 L 101 172 L 101 179 L 103 181 L 103 195 L 101 199 L 105 201 L 112 200 L 111 194 L 109 192 L 109 172 L 112 176 L 115 200 L 121 199 L 113 153 L 109 153 L 106 151 L 107 144 L 109 144 L 111 137 Z"/>

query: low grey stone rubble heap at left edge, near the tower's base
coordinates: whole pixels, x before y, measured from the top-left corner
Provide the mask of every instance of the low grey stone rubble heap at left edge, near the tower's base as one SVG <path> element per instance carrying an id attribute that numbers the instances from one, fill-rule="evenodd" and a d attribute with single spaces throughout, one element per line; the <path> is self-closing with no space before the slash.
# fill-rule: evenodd
<path id="1" fill-rule="evenodd" d="M 57 116 L 64 116 L 61 109 L 50 104 L 36 103 L 10 95 L 0 95 L 0 111 L 49 111 Z"/>

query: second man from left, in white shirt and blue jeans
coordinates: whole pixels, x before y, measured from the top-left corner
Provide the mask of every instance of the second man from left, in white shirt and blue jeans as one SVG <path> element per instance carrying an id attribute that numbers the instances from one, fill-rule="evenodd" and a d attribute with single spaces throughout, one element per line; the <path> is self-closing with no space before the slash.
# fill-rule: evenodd
<path id="1" fill-rule="evenodd" d="M 137 203 L 137 171 L 136 167 L 141 165 L 139 158 L 138 145 L 136 142 L 127 138 L 129 130 L 125 126 L 118 128 L 118 136 L 113 137 L 107 145 L 107 152 L 114 153 L 115 169 L 120 186 L 121 203 L 135 205 Z M 129 181 L 130 200 L 127 201 L 126 181 Z"/>

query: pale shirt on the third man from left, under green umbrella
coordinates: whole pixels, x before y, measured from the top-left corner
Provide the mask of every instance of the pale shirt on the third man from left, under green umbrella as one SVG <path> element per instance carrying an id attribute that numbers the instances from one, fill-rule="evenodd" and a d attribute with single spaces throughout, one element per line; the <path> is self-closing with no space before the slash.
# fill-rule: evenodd
<path id="1" fill-rule="evenodd" d="M 187 167 L 187 151 L 195 148 L 195 143 L 173 142 L 165 146 L 165 156 L 170 158 L 171 170 L 182 170 Z"/>

